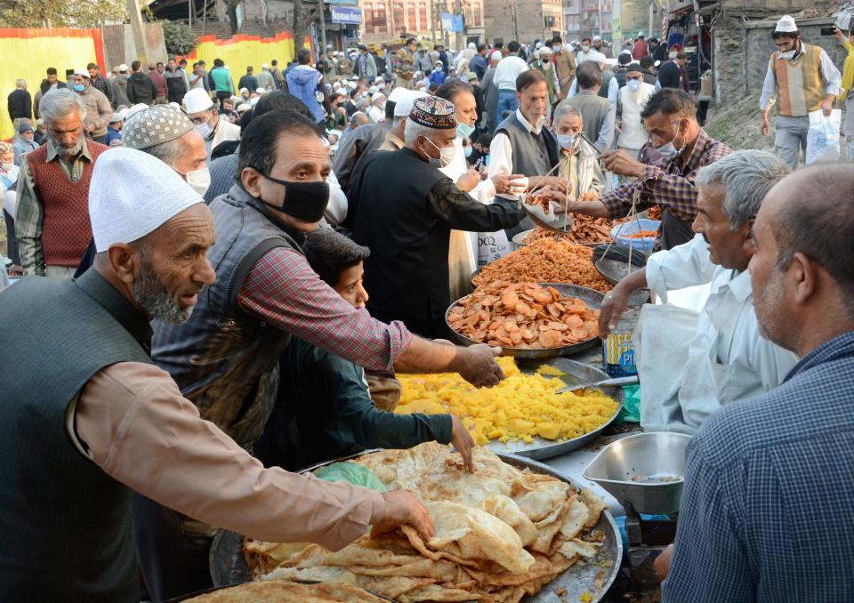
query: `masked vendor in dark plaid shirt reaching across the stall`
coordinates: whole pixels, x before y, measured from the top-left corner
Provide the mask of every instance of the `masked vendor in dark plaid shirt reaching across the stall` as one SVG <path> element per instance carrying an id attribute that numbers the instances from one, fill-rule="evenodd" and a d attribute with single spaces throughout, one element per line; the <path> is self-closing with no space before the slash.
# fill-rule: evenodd
<path id="1" fill-rule="evenodd" d="M 606 193 L 598 201 L 569 199 L 566 205 L 570 212 L 610 220 L 624 217 L 633 202 L 637 203 L 639 212 L 660 205 L 661 247 L 671 249 L 694 237 L 691 222 L 697 217 L 694 186 L 697 170 L 726 157 L 732 150 L 705 133 L 697 122 L 694 102 L 681 90 L 665 88 L 653 94 L 641 117 L 650 141 L 664 158 L 655 165 L 647 165 L 622 150 L 605 151 L 600 155 L 604 168 L 633 180 Z M 554 197 L 563 200 L 560 192 L 555 192 Z"/>

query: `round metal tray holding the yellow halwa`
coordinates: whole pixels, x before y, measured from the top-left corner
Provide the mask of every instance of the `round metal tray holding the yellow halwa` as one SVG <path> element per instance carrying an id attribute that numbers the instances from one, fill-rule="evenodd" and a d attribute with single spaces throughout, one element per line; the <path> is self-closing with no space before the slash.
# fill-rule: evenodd
<path id="1" fill-rule="evenodd" d="M 536 369 L 542 365 L 554 366 L 565 373 L 563 376 L 558 378 L 567 385 L 592 383 L 602 381 L 603 379 L 608 379 L 610 377 L 610 375 L 604 371 L 600 371 L 594 366 L 585 365 L 581 362 L 576 362 L 575 360 L 570 360 L 568 358 L 552 358 L 547 361 L 519 362 L 520 370 L 523 373 L 528 374 L 535 373 Z M 516 442 L 494 441 L 489 443 L 489 447 L 492 448 L 495 454 L 518 454 L 519 456 L 525 456 L 529 459 L 542 461 L 544 459 L 551 459 L 555 456 L 560 456 L 561 454 L 567 454 L 568 452 L 576 450 L 576 448 L 580 448 L 581 446 L 592 442 L 594 439 L 599 438 L 600 433 L 605 430 L 608 425 L 614 422 L 617 415 L 620 414 L 620 410 L 622 410 L 624 403 L 623 388 L 617 386 L 600 388 L 600 390 L 605 395 L 614 398 L 617 402 L 617 406 L 614 414 L 611 415 L 608 421 L 602 423 L 599 428 L 592 430 L 590 433 L 585 433 L 583 436 L 578 436 L 577 438 L 564 440 L 562 442 L 538 437 L 534 438 L 534 441 L 530 444 L 526 444 L 521 440 Z"/>

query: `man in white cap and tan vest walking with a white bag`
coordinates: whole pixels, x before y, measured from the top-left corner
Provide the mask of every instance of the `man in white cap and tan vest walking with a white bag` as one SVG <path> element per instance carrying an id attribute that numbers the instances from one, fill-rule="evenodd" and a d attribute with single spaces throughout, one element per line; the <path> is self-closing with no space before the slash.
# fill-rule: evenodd
<path id="1" fill-rule="evenodd" d="M 796 169 L 801 149 L 806 158 L 810 113 L 821 109 L 830 115 L 840 92 L 842 74 L 821 46 L 804 44 L 797 23 L 789 15 L 777 21 L 771 33 L 777 50 L 768 61 L 759 98 L 761 130 L 768 136 L 768 114 L 777 99 L 777 137 L 774 153 L 789 169 Z"/>

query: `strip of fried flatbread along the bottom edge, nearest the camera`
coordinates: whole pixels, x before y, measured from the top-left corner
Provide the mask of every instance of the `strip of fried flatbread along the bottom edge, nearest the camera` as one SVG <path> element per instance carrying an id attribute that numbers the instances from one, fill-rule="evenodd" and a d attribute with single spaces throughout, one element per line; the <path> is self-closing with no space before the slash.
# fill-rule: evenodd
<path id="1" fill-rule="evenodd" d="M 300 584 L 288 580 L 271 580 L 240 584 L 186 600 L 188 603 L 383 603 L 384 599 L 352 584 Z"/>

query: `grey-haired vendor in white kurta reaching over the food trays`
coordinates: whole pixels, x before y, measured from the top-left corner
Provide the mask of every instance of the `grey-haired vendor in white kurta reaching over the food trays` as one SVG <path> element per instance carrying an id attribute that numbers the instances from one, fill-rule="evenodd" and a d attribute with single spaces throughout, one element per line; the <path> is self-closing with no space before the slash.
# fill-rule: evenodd
<path id="1" fill-rule="evenodd" d="M 789 172 L 766 151 L 738 151 L 697 173 L 697 237 L 653 253 L 645 269 L 608 293 L 600 333 L 616 328 L 629 295 L 649 287 L 663 305 L 644 305 L 634 334 L 644 430 L 693 434 L 721 406 L 772 390 L 797 358 L 764 339 L 747 264 L 762 199 Z M 667 292 L 710 285 L 698 313 L 666 303 Z"/>

